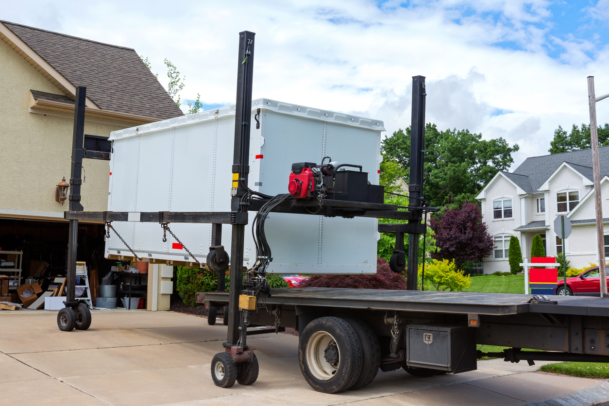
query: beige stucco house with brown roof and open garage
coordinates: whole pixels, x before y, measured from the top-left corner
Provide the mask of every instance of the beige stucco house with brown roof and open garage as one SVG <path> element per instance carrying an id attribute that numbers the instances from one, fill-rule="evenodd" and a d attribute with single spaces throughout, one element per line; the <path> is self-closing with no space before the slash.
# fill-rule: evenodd
<path id="1" fill-rule="evenodd" d="M 23 251 L 24 277 L 43 262 L 62 273 L 68 205 L 55 194 L 70 178 L 76 86 L 86 86 L 85 147 L 94 150 L 110 148 L 111 131 L 183 113 L 131 48 L 0 21 L 0 72 L 0 253 Z M 109 168 L 83 161 L 85 210 L 107 209 Z M 81 222 L 78 260 L 101 272 L 103 253 L 104 226 Z"/>

